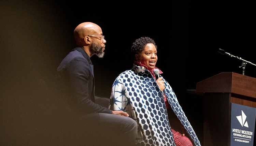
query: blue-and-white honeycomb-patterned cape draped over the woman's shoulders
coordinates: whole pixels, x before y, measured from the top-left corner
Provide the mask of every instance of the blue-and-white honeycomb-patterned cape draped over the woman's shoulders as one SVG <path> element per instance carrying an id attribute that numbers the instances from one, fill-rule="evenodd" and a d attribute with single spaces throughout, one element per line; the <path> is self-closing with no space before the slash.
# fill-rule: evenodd
<path id="1" fill-rule="evenodd" d="M 200 142 L 177 98 L 165 79 L 165 94 L 174 113 L 196 146 Z M 175 146 L 165 100 L 155 78 L 145 68 L 133 64 L 132 70 L 121 73 L 112 86 L 110 110 L 122 110 L 137 121 L 137 146 Z"/>

